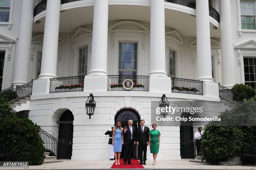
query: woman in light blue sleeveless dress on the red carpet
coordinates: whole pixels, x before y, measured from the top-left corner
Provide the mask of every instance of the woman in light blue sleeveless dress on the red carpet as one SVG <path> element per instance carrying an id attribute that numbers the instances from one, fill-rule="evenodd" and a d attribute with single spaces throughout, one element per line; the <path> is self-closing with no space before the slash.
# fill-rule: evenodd
<path id="1" fill-rule="evenodd" d="M 123 128 L 121 127 L 121 121 L 119 120 L 116 122 L 115 128 L 113 129 L 112 139 L 115 152 L 115 165 L 120 165 L 120 155 L 123 145 Z"/>

